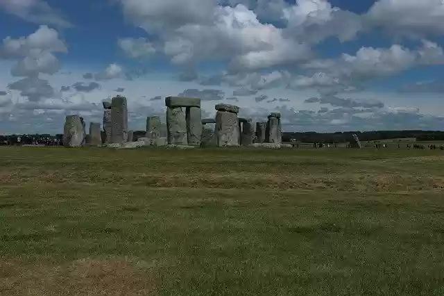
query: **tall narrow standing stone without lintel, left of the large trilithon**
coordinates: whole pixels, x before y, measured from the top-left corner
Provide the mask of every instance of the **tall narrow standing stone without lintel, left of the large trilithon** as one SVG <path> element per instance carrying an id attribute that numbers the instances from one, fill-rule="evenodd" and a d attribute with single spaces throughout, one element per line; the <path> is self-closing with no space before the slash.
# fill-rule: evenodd
<path id="1" fill-rule="evenodd" d="M 128 140 L 128 105 L 126 97 L 113 97 L 111 108 L 111 142 L 123 144 Z"/>

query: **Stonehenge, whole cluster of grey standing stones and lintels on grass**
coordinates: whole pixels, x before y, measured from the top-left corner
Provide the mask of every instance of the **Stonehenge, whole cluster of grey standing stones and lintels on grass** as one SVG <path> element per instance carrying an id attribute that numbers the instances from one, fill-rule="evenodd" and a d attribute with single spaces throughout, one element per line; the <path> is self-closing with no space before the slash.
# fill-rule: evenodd
<path id="1" fill-rule="evenodd" d="M 253 123 L 249 118 L 238 117 L 238 106 L 216 104 L 216 116 L 202 118 L 200 99 L 167 97 L 167 124 L 163 124 L 159 116 L 146 117 L 146 131 L 141 134 L 141 131 L 128 131 L 126 97 L 117 95 L 103 100 L 102 104 L 103 131 L 100 123 L 90 122 L 89 135 L 86 136 L 83 117 L 66 117 L 63 138 L 65 147 L 83 147 L 86 138 L 88 145 L 122 149 L 142 146 L 279 148 L 282 145 L 280 113 L 268 115 L 267 122 Z M 210 124 L 214 124 L 214 129 Z"/>

